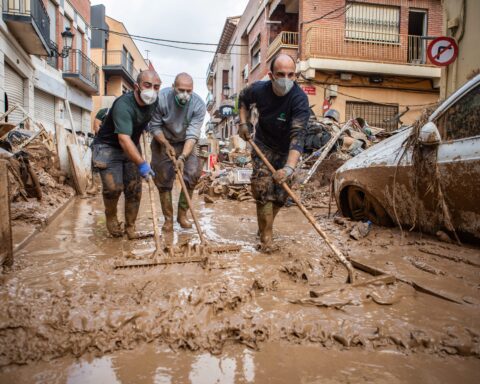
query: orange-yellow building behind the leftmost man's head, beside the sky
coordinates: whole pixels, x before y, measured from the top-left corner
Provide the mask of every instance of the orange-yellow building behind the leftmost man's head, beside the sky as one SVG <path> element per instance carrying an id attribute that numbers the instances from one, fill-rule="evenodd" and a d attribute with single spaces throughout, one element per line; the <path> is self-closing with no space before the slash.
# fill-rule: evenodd
<path id="1" fill-rule="evenodd" d="M 109 108 L 116 97 L 132 91 L 141 71 L 154 69 L 128 36 L 125 25 L 105 12 L 102 4 L 91 7 L 92 25 L 95 27 L 92 32 L 92 58 L 101 68 L 99 94 L 93 97 L 93 116 L 99 109 Z"/>

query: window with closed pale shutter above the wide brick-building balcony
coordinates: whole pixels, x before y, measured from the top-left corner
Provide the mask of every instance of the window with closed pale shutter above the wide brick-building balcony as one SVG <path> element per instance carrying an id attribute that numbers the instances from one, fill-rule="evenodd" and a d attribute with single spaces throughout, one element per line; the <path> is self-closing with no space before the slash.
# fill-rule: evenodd
<path id="1" fill-rule="evenodd" d="M 400 8 L 348 2 L 345 37 L 355 40 L 399 42 Z"/>

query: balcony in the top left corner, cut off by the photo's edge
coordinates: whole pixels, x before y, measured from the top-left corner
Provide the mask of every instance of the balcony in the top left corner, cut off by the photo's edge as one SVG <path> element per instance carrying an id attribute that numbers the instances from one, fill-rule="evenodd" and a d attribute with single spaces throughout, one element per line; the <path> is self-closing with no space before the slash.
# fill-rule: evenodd
<path id="1" fill-rule="evenodd" d="M 42 0 L 3 0 L 3 20 L 26 52 L 50 54 L 50 19 Z"/>

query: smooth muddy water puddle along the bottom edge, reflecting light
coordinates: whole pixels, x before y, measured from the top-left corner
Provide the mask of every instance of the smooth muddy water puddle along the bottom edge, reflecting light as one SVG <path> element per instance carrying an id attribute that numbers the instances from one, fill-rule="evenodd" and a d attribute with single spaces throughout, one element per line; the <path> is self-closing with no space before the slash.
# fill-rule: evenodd
<path id="1" fill-rule="evenodd" d="M 221 355 L 145 345 L 99 358 L 61 358 L 0 370 L 0 383 L 477 383 L 475 358 L 404 355 L 392 350 L 335 351 L 269 343 Z"/>

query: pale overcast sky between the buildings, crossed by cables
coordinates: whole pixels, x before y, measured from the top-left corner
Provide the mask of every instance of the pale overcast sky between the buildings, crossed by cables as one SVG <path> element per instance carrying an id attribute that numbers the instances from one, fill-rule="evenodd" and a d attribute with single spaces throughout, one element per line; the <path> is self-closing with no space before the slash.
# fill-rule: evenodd
<path id="1" fill-rule="evenodd" d="M 92 0 L 92 5 L 104 4 L 107 15 L 122 21 L 130 34 L 214 44 L 218 43 L 225 18 L 241 15 L 247 3 L 248 0 Z M 172 75 L 188 72 L 194 78 L 194 91 L 205 99 L 205 74 L 213 53 L 135 43 L 145 57 L 145 50 L 150 51 L 149 58 L 160 74 L 162 87 L 172 84 Z M 182 46 L 209 51 L 216 48 Z"/>

